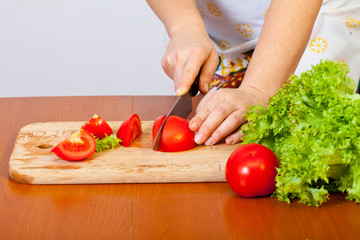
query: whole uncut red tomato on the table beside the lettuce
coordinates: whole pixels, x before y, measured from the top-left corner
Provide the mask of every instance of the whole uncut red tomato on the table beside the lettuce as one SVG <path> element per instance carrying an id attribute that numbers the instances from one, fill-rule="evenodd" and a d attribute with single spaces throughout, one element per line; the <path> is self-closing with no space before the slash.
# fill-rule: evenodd
<path id="1" fill-rule="evenodd" d="M 267 196 L 275 191 L 279 160 L 267 147 L 249 143 L 230 155 L 225 177 L 230 187 L 241 197 Z"/>

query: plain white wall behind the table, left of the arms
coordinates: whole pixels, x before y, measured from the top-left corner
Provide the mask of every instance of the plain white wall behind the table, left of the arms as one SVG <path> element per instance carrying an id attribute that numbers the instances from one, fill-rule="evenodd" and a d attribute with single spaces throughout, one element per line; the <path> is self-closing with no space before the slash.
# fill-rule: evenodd
<path id="1" fill-rule="evenodd" d="M 145 0 L 0 0 L 0 97 L 174 95 Z"/>

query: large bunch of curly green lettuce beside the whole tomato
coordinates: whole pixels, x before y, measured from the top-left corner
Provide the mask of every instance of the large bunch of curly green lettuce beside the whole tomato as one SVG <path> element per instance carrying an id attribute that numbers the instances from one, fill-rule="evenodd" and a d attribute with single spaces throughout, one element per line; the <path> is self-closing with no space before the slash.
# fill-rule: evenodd
<path id="1" fill-rule="evenodd" d="M 320 206 L 329 192 L 360 202 L 360 96 L 346 63 L 321 61 L 254 106 L 243 143 L 260 143 L 279 158 L 273 196 Z"/>

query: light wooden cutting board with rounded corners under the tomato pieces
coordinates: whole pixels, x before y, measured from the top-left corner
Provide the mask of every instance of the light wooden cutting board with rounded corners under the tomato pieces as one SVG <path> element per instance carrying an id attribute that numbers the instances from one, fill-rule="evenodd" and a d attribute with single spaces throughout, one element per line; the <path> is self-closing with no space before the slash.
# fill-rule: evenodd
<path id="1" fill-rule="evenodd" d="M 83 161 L 58 158 L 50 150 L 84 122 L 44 122 L 23 127 L 9 160 L 10 177 L 26 184 L 223 182 L 226 161 L 238 145 L 196 146 L 184 152 L 153 151 L 152 121 L 131 147 L 94 153 Z M 121 122 L 108 122 L 116 133 Z"/>

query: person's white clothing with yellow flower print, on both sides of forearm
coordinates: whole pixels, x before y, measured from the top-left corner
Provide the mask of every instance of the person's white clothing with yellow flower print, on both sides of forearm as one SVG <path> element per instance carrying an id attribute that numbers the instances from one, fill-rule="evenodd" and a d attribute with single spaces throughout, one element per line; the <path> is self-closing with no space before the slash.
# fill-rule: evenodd
<path id="1" fill-rule="evenodd" d="M 238 87 L 258 41 L 270 0 L 197 0 L 220 64 L 210 86 Z M 295 74 L 320 59 L 344 61 L 360 78 L 360 0 L 324 0 Z M 237 76 L 239 79 L 235 80 Z M 232 80 L 230 80 L 232 79 Z M 236 82 L 236 83 L 235 83 Z"/>

